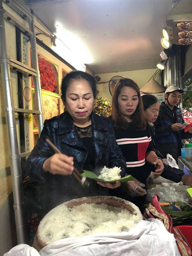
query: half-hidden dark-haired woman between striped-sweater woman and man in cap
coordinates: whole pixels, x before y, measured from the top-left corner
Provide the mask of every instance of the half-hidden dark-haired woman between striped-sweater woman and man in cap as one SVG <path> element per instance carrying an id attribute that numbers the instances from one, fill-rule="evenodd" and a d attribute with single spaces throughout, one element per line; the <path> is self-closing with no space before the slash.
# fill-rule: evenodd
<path id="1" fill-rule="evenodd" d="M 151 139 L 153 142 L 154 150 L 158 157 L 163 158 L 163 155 L 160 153 L 160 151 L 157 150 L 154 142 L 155 127 L 153 124 L 157 120 L 159 109 L 160 109 L 160 103 L 158 99 L 151 94 L 143 95 L 142 100 L 143 100 L 143 107 L 145 110 L 145 114 L 150 125 Z M 185 185 L 192 186 L 192 176 L 186 175 L 183 173 L 182 170 L 177 168 L 172 168 L 167 164 L 164 164 L 164 171 L 162 172 L 161 176 L 175 182 L 182 181 Z"/>

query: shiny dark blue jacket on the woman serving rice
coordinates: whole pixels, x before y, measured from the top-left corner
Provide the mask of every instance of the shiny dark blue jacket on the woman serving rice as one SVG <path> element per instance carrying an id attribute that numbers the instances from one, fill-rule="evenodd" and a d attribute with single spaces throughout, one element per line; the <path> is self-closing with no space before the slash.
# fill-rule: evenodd
<path id="1" fill-rule="evenodd" d="M 122 170 L 121 176 L 125 176 L 125 160 L 116 143 L 111 121 L 94 113 L 91 119 L 96 170 L 104 166 L 110 168 L 118 166 Z M 44 161 L 54 154 L 46 138 L 49 138 L 63 154 L 73 156 L 74 166 L 80 172 L 87 158 L 87 149 L 69 113 L 62 113 L 44 122 L 41 136 L 27 160 L 26 175 L 45 185 L 48 200 L 45 204 L 49 204 L 49 209 L 73 198 L 108 195 L 108 189 L 99 186 L 95 180 L 90 180 L 90 186 L 87 188 L 82 187 L 73 175 L 52 175 L 49 172 L 43 172 Z"/>

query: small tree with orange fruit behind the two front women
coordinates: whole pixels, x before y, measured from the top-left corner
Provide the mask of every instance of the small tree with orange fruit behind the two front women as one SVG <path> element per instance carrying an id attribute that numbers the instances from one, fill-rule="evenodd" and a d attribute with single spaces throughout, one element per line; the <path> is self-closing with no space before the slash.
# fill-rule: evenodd
<path id="1" fill-rule="evenodd" d="M 104 99 L 103 97 L 99 97 L 95 99 L 93 112 L 96 113 L 99 116 L 105 116 L 108 117 L 111 115 L 111 103 L 107 101 L 107 99 Z"/>

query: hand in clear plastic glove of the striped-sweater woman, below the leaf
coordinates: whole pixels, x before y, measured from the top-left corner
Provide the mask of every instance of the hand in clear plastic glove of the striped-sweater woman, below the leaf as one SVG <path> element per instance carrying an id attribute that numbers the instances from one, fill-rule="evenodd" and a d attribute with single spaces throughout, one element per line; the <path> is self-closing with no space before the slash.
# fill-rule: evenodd
<path id="1" fill-rule="evenodd" d="M 146 195 L 146 190 L 143 189 L 145 185 L 138 180 L 130 180 L 126 183 L 126 192 L 131 196 Z"/>

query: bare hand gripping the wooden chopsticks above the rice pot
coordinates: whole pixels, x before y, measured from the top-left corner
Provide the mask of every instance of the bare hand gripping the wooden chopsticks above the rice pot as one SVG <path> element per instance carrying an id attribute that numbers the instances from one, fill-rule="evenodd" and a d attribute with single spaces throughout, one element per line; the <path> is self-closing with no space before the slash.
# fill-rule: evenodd
<path id="1" fill-rule="evenodd" d="M 73 172 L 73 157 L 56 153 L 44 161 L 43 170 L 52 174 L 71 175 Z"/>

